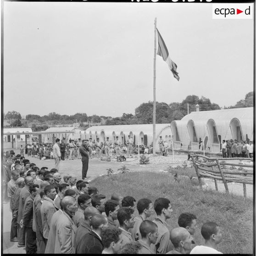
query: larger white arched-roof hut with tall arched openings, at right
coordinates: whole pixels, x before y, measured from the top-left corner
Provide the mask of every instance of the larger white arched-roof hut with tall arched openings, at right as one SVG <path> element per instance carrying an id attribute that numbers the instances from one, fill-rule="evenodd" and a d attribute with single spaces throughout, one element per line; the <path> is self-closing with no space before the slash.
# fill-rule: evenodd
<path id="1" fill-rule="evenodd" d="M 222 140 L 253 140 L 253 107 L 195 111 L 171 122 L 175 149 L 219 152 Z M 201 145 L 200 145 L 201 144 Z"/>

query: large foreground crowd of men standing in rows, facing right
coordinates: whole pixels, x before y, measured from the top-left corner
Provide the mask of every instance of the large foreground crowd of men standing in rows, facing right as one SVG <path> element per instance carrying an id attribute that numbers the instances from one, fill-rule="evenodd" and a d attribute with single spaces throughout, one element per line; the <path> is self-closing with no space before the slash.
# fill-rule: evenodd
<path id="1" fill-rule="evenodd" d="M 87 141 L 82 143 L 85 147 Z M 55 168 L 39 168 L 20 155 L 7 153 L 4 167 L 7 175 L 11 174 L 7 184 L 12 211 L 10 240 L 25 247 L 27 254 L 221 253 L 217 250 L 222 240 L 217 223 L 203 223 L 205 245 L 196 246 L 195 214 L 184 212 L 178 217 L 179 227 L 169 227 L 166 221 L 173 209 L 167 198 L 137 201 L 113 188 L 107 198 L 87 181 L 68 174 L 62 180 Z M 154 220 L 149 220 L 154 215 Z"/>

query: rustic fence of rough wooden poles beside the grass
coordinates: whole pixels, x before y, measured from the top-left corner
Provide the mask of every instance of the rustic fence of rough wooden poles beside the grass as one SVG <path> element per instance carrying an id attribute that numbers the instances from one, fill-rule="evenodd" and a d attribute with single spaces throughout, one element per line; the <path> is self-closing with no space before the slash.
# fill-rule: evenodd
<path id="1" fill-rule="evenodd" d="M 201 160 L 201 159 L 202 160 Z M 202 155 L 191 155 L 193 161 L 195 172 L 199 180 L 200 188 L 202 188 L 201 178 L 213 178 L 215 182 L 215 188 L 218 191 L 217 180 L 222 180 L 226 193 L 228 191 L 228 182 L 242 183 L 244 187 L 244 197 L 246 197 L 246 184 L 253 184 L 253 165 L 243 164 L 243 163 L 232 163 L 230 161 L 240 160 L 248 161 L 251 158 L 211 158 Z M 229 161 L 229 162 L 226 162 Z M 226 166 L 238 166 L 239 169 L 225 170 Z M 214 168 L 215 167 L 215 168 Z M 216 168 L 217 167 L 217 168 Z M 244 167 L 252 168 L 251 171 L 244 169 Z M 250 176 L 247 176 L 250 175 Z"/>

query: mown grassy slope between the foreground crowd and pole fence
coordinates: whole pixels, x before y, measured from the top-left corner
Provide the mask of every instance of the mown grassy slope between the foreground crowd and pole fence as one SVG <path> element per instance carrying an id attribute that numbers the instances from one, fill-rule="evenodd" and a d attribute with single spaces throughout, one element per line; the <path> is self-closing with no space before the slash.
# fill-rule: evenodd
<path id="1" fill-rule="evenodd" d="M 214 221 L 222 227 L 223 241 L 218 250 L 223 253 L 251 254 L 253 248 L 253 201 L 242 196 L 226 195 L 216 191 L 201 191 L 189 179 L 179 183 L 173 174 L 133 172 L 102 176 L 91 182 L 100 193 L 110 198 L 116 191 L 123 196 L 132 195 L 136 200 L 147 197 L 154 201 L 166 197 L 171 201 L 173 216 L 167 221 L 171 229 L 178 227 L 178 216 L 185 211 L 195 213 L 198 230 L 195 243 L 203 245 L 201 225 Z M 136 212 L 138 214 L 138 212 Z"/>

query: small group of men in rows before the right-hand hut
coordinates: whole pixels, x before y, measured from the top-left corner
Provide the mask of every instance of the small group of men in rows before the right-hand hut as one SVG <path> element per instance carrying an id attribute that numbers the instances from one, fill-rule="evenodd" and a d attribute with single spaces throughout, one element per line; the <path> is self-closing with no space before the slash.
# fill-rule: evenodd
<path id="1" fill-rule="evenodd" d="M 246 141 L 239 142 L 238 140 L 225 140 L 222 141 L 222 156 L 223 158 L 231 157 L 253 157 L 253 142 L 250 141 L 249 144 Z"/>

